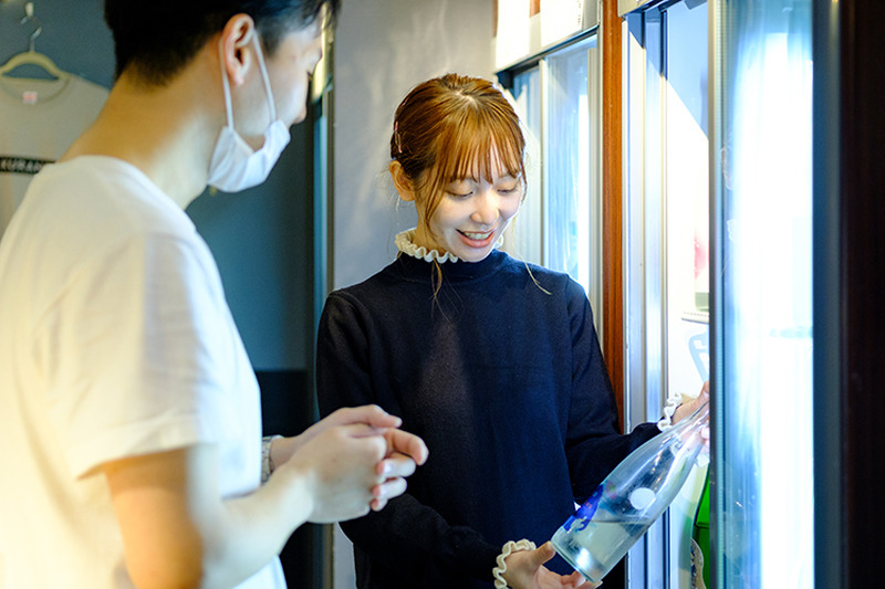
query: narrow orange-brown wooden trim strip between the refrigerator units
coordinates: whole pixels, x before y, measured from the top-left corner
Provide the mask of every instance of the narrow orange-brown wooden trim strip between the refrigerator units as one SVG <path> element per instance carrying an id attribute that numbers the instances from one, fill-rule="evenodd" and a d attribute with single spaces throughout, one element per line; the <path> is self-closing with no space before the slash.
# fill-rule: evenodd
<path id="1" fill-rule="evenodd" d="M 603 356 L 624 425 L 624 288 L 622 244 L 621 17 L 602 0 Z"/>

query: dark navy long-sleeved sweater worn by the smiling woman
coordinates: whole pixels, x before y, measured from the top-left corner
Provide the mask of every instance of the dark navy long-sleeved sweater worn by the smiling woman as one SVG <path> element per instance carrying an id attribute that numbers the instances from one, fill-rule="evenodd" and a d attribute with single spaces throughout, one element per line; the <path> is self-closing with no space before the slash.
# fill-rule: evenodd
<path id="1" fill-rule="evenodd" d="M 549 540 L 658 433 L 618 434 L 583 288 L 500 251 L 438 266 L 400 255 L 333 292 L 316 385 L 323 416 L 377 403 L 430 450 L 405 495 L 342 524 L 360 589 L 492 587 L 506 541 Z"/>

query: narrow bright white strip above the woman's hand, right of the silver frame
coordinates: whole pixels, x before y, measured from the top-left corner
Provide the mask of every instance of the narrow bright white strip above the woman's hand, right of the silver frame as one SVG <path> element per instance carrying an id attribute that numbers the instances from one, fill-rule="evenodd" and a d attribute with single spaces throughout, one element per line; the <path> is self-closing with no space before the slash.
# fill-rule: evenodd
<path id="1" fill-rule="evenodd" d="M 666 23 L 662 182 L 667 390 L 696 395 L 709 378 L 707 3 L 673 4 Z"/>

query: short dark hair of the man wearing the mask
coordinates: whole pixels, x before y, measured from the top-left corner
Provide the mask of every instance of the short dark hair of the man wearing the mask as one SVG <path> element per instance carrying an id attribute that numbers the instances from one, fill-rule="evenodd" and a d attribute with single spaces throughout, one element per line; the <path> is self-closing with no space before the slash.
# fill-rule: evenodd
<path id="1" fill-rule="evenodd" d="M 126 67 L 152 85 L 168 83 L 209 38 L 235 14 L 256 21 L 264 51 L 272 55 L 285 34 L 313 24 L 327 9 L 329 24 L 341 0 L 105 0 L 104 18 L 114 35 L 115 77 Z"/>

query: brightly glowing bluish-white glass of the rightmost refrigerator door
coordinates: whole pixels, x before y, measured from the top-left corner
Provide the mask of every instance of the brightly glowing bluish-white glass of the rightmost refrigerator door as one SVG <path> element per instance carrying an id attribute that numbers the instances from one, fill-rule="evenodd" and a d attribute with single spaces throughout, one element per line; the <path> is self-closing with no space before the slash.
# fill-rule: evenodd
<path id="1" fill-rule="evenodd" d="M 720 587 L 814 587 L 811 1 L 722 3 Z"/>

